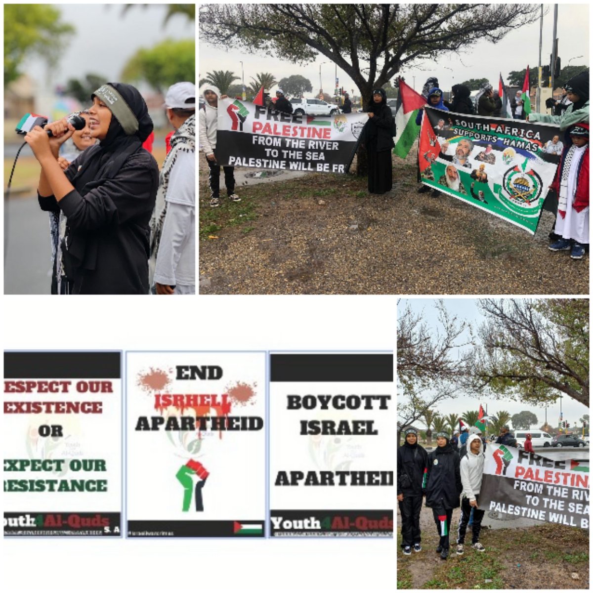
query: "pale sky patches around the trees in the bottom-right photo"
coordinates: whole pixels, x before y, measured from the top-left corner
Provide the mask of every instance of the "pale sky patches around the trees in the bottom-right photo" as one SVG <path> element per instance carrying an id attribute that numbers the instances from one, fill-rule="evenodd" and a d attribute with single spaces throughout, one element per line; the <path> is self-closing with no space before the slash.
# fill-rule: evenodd
<path id="1" fill-rule="evenodd" d="M 465 320 L 472 324 L 481 324 L 484 321 L 483 315 L 477 307 L 477 300 L 473 298 L 455 298 L 455 299 L 444 299 L 447 310 L 452 315 L 457 315 L 459 320 Z M 398 314 L 401 314 L 405 310 L 407 305 L 410 305 L 413 313 L 422 313 L 423 318 L 429 327 L 435 329 L 439 327 L 438 323 L 438 312 L 434 306 L 435 299 L 432 298 L 415 298 L 415 299 L 400 299 L 397 307 Z M 457 413 L 461 416 L 466 410 L 477 410 L 480 407 L 480 403 L 484 407 L 488 407 L 488 413 L 490 415 L 495 414 L 499 410 L 506 410 L 511 416 L 522 412 L 522 410 L 530 410 L 535 416 L 537 416 L 537 426 L 541 426 L 545 420 L 546 407 L 541 404 L 536 406 L 534 404 L 525 404 L 509 399 L 488 399 L 486 397 L 480 397 L 478 395 L 472 396 L 470 394 L 461 394 L 458 397 L 443 400 L 438 404 L 442 415 L 447 416 L 450 413 Z M 557 422 L 560 416 L 560 399 L 557 403 L 549 404 L 547 407 L 548 412 L 548 423 L 551 426 L 557 426 Z M 583 414 L 588 414 L 588 407 L 575 401 L 568 396 L 564 396 L 562 399 L 562 413 L 563 419 L 568 420 L 573 425 L 573 422 L 578 422 L 579 418 Z M 534 427 L 532 427 L 534 428 Z"/>

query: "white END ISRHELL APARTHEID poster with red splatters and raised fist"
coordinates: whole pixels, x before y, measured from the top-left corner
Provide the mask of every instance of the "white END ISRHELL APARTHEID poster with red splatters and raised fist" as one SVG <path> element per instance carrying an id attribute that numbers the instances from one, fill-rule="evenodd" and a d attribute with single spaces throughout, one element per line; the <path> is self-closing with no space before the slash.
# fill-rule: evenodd
<path id="1" fill-rule="evenodd" d="M 126 361 L 128 537 L 264 537 L 265 353 Z"/>

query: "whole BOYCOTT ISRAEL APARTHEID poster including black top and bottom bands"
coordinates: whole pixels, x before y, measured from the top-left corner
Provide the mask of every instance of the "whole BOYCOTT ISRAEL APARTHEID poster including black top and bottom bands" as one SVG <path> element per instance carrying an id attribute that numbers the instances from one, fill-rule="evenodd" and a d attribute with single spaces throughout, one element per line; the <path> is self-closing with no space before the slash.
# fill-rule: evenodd
<path id="1" fill-rule="evenodd" d="M 393 355 L 270 355 L 270 535 L 392 537 Z"/>

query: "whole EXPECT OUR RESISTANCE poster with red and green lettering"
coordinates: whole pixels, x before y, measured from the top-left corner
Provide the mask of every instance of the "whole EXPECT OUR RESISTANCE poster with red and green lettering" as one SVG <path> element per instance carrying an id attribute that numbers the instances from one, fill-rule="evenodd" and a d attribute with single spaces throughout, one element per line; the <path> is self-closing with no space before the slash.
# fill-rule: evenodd
<path id="1" fill-rule="evenodd" d="M 121 537 L 119 352 L 4 353 L 4 535 Z"/>

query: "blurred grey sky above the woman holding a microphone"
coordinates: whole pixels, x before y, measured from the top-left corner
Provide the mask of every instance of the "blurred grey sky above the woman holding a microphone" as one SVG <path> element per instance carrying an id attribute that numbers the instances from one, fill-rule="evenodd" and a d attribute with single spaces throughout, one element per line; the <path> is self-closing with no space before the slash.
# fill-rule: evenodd
<path id="1" fill-rule="evenodd" d="M 132 7 L 122 15 L 121 4 L 54 4 L 62 21 L 76 33 L 66 47 L 50 84 L 65 84 L 69 78 L 99 74 L 118 82 L 123 66 L 140 47 L 152 47 L 165 39 L 195 39 L 195 23 L 184 15 L 171 17 L 163 26 L 164 5 Z M 39 57 L 28 60 L 27 74 L 46 82 L 47 68 Z"/>

